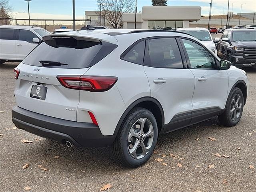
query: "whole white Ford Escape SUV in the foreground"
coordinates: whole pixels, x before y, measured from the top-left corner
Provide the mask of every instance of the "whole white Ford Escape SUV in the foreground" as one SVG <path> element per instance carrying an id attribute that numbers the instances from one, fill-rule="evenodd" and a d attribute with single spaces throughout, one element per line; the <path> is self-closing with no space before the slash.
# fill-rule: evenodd
<path id="1" fill-rule="evenodd" d="M 236 125 L 246 73 L 175 31 L 52 34 L 14 69 L 14 124 L 69 147 L 112 146 L 137 167 L 158 136 L 214 116 Z"/>

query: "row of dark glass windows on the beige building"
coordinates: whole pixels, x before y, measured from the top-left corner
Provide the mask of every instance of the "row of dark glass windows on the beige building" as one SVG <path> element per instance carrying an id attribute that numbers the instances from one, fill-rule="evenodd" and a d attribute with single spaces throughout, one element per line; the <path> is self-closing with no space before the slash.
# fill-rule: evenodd
<path id="1" fill-rule="evenodd" d="M 153 21 L 148 20 L 148 29 L 172 27 L 172 30 L 183 27 L 183 21 Z"/>

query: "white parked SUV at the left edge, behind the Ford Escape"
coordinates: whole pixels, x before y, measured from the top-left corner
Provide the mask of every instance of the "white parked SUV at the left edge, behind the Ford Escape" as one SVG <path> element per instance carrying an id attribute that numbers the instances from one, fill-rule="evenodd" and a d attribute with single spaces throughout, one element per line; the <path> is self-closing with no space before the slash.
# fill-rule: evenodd
<path id="1" fill-rule="evenodd" d="M 0 64 L 6 60 L 22 61 L 48 34 L 51 33 L 40 27 L 0 26 Z"/>

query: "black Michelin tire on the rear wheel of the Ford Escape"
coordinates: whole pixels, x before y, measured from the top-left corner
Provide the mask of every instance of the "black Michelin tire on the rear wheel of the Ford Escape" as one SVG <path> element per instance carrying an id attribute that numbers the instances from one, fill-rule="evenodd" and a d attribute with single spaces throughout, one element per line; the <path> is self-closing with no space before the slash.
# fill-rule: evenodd
<path id="1" fill-rule="evenodd" d="M 130 130 L 132 130 L 132 126 L 134 127 L 135 126 L 134 124 L 141 118 L 146 118 L 147 120 L 149 120 L 151 122 L 154 133 L 153 133 L 153 136 L 150 137 L 152 144 L 151 144 L 151 147 L 148 149 L 148 152 L 146 153 L 146 155 L 142 158 L 136 159 L 129 152 L 128 148 L 130 146 L 128 146 L 128 136 L 130 134 Z M 118 135 L 116 137 L 116 140 L 114 141 L 114 143 L 112 145 L 112 153 L 113 153 L 114 157 L 116 158 L 116 160 L 118 160 L 118 162 L 120 162 L 123 166 L 136 168 L 136 167 L 143 165 L 144 163 L 146 163 L 149 160 L 149 158 L 153 154 L 153 150 L 156 146 L 157 138 L 158 138 L 158 128 L 157 128 L 156 119 L 155 119 L 154 115 L 152 114 L 152 112 L 150 112 L 149 110 L 147 110 L 145 108 L 135 107 L 134 109 L 132 109 L 130 111 L 130 113 L 126 116 L 126 118 L 122 122 L 122 125 L 119 129 Z M 129 140 L 129 142 L 130 142 L 130 140 Z M 142 142 L 146 142 L 146 138 L 144 141 L 143 140 L 142 140 Z M 141 140 L 139 139 L 139 142 L 140 141 Z M 134 146 L 135 146 L 135 144 L 134 144 Z M 139 148 L 140 148 L 140 146 L 138 147 L 138 149 Z"/>

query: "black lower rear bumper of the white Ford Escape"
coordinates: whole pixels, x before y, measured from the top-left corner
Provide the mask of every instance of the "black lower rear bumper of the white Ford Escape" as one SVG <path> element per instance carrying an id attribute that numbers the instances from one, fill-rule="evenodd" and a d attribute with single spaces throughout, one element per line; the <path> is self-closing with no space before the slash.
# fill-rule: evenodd
<path id="1" fill-rule="evenodd" d="M 102 135 L 93 123 L 54 118 L 18 106 L 12 108 L 12 122 L 17 128 L 62 144 L 68 140 L 74 146 L 103 147 L 110 146 L 115 140 L 114 135 Z"/>

